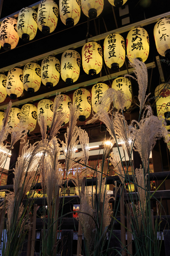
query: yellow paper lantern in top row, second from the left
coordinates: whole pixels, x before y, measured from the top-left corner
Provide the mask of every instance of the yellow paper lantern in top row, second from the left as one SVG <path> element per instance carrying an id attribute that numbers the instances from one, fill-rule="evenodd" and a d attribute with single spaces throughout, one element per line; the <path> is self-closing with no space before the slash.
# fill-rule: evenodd
<path id="1" fill-rule="evenodd" d="M 32 7 L 24 7 L 18 15 L 17 33 L 25 42 L 32 40 L 37 33 L 37 12 Z"/>

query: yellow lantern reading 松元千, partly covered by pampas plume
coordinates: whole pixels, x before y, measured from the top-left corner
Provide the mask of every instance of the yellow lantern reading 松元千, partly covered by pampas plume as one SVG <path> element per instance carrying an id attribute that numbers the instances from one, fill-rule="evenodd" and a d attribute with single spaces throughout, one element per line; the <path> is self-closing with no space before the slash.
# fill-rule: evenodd
<path id="1" fill-rule="evenodd" d="M 93 85 L 93 87 L 92 87 L 92 109 L 94 112 L 97 113 L 96 104 L 98 103 L 98 101 L 101 99 L 103 93 L 106 92 L 108 88 L 109 88 L 108 85 L 103 84 L 103 83 L 98 83 L 98 84 Z M 106 110 L 108 111 L 107 106 L 106 106 Z"/>

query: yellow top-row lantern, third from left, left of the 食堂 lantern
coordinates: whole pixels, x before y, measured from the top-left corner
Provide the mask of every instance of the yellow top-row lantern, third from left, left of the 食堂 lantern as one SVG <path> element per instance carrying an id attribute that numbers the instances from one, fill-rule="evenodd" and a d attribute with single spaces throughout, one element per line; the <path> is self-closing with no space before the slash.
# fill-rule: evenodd
<path id="1" fill-rule="evenodd" d="M 37 24 L 43 34 L 53 32 L 58 21 L 58 6 L 53 0 L 42 0 L 38 6 Z"/>

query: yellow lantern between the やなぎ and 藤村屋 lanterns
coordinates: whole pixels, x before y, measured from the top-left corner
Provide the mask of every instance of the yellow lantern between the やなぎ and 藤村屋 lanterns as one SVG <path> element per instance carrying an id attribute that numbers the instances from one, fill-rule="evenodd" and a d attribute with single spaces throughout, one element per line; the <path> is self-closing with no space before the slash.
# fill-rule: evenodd
<path id="1" fill-rule="evenodd" d="M 31 61 L 26 64 L 23 72 L 23 86 L 28 93 L 37 92 L 41 85 L 41 67 Z"/>

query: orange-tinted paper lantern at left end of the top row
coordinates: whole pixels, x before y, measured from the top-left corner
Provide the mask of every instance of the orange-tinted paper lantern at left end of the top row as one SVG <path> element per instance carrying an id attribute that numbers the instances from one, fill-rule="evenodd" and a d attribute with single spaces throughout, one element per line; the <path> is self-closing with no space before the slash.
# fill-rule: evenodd
<path id="1" fill-rule="evenodd" d="M 0 28 L 0 44 L 5 51 L 9 51 L 17 46 L 18 40 L 17 20 L 14 18 L 5 18 Z"/>

